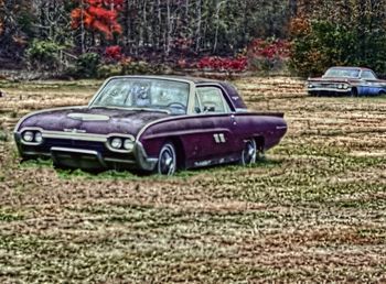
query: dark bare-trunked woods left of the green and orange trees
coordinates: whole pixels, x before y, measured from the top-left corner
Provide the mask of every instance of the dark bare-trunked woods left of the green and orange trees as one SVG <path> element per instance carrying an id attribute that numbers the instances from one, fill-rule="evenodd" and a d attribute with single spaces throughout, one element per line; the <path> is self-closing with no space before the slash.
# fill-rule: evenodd
<path id="1" fill-rule="evenodd" d="M 85 17 L 95 3 L 117 13 L 121 30 L 112 37 L 95 26 L 72 25 L 75 9 Z M 133 55 L 154 52 L 168 57 L 181 46 L 192 54 L 230 54 L 254 37 L 286 37 L 288 4 L 283 0 L 0 0 L 0 52 L 9 56 L 39 39 L 77 53 L 119 44 Z"/>

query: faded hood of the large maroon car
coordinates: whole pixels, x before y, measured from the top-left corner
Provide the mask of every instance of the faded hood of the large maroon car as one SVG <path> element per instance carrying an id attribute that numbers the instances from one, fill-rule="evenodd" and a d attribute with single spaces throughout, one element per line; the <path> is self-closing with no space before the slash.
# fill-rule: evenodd
<path id="1" fill-rule="evenodd" d="M 41 111 L 25 118 L 17 130 L 42 128 L 49 131 L 82 131 L 95 134 L 132 134 L 148 123 L 170 114 L 161 111 L 107 108 L 66 108 Z"/>

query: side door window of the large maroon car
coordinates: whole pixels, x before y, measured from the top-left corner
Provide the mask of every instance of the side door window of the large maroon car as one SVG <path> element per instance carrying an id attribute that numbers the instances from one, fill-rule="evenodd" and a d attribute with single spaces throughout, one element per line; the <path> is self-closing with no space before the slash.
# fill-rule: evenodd
<path id="1" fill-rule="evenodd" d="M 225 101 L 223 91 L 217 87 L 199 87 L 197 88 L 196 102 L 200 105 L 200 112 L 215 112 L 215 113 L 228 113 L 230 108 Z M 195 106 L 195 112 L 196 109 Z"/>

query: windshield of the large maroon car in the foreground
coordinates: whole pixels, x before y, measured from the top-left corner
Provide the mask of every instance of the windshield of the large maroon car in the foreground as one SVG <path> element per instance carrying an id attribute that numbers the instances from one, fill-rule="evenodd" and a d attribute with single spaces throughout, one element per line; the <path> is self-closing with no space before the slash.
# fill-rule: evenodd
<path id="1" fill-rule="evenodd" d="M 92 108 L 127 108 L 185 114 L 190 85 L 154 78 L 115 78 L 98 94 Z"/>

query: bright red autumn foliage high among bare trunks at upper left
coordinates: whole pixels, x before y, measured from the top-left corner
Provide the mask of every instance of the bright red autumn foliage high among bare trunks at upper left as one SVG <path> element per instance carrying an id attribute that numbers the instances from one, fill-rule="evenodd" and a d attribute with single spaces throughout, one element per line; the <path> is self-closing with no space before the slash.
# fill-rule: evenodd
<path id="1" fill-rule="evenodd" d="M 106 39 L 122 32 L 118 23 L 118 12 L 121 11 L 124 0 L 85 0 L 83 8 L 76 8 L 71 13 L 72 28 L 78 29 L 82 23 L 88 30 L 101 32 Z"/>

